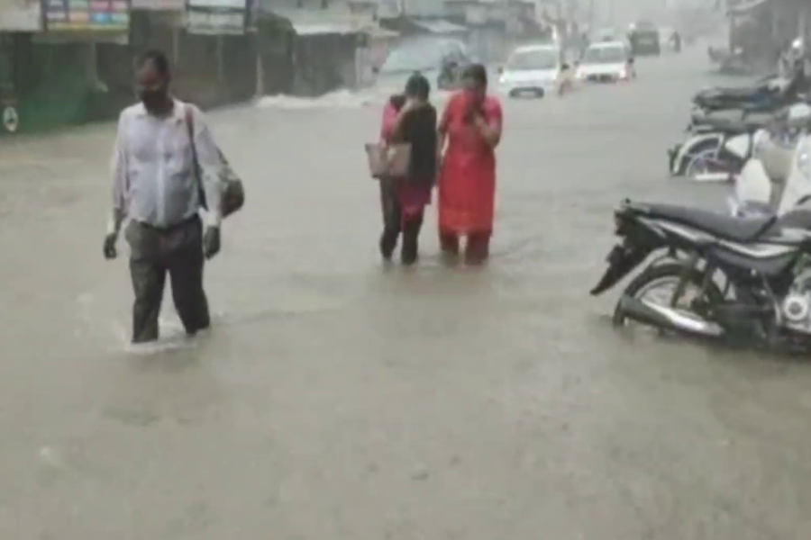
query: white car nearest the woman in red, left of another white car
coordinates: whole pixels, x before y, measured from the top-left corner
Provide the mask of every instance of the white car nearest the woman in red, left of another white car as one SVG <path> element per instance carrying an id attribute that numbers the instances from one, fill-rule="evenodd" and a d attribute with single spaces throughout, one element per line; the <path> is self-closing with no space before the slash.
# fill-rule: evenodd
<path id="1" fill-rule="evenodd" d="M 499 69 L 499 90 L 510 97 L 543 97 L 554 91 L 562 58 L 556 45 L 525 45 L 515 49 Z"/>

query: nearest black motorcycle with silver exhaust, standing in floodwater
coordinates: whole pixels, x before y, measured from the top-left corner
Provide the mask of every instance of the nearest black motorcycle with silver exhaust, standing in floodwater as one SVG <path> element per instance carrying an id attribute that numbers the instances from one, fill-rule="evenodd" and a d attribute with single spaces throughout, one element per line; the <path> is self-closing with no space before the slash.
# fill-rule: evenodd
<path id="1" fill-rule="evenodd" d="M 625 287 L 615 325 L 633 320 L 693 337 L 811 347 L 811 209 L 736 218 L 626 200 L 614 220 L 622 242 L 592 295 L 659 254 Z M 646 298 L 665 285 L 672 289 L 662 301 Z"/>

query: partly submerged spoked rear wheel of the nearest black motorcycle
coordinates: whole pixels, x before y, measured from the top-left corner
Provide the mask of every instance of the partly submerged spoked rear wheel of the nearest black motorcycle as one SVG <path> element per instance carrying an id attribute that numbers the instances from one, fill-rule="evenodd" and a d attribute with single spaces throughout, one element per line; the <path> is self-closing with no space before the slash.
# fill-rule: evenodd
<path id="1" fill-rule="evenodd" d="M 653 266 L 642 274 L 637 275 L 625 288 L 624 295 L 630 296 L 637 301 L 644 301 L 655 306 L 669 308 L 679 312 L 679 315 L 689 320 L 695 320 L 697 324 L 704 322 L 702 316 L 697 313 L 696 308 L 701 302 L 717 304 L 723 302 L 724 293 L 715 283 L 708 284 L 706 292 L 702 293 L 704 286 L 704 273 L 696 268 L 689 271 L 688 281 L 673 303 L 674 293 L 679 287 L 679 281 L 685 268 L 679 263 L 665 263 L 660 266 Z M 617 302 L 614 317 L 612 319 L 615 327 L 624 327 L 641 330 L 648 333 L 663 335 L 671 333 L 669 329 L 652 326 L 651 324 L 632 320 L 622 307 L 622 301 Z"/>

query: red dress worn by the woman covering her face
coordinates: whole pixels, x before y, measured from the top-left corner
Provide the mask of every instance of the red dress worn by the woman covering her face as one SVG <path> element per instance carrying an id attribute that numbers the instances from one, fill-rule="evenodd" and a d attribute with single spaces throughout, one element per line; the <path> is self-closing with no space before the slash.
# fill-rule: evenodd
<path id="1" fill-rule="evenodd" d="M 493 230 L 496 202 L 496 155 L 478 130 L 465 123 L 468 96 L 454 94 L 442 114 L 441 129 L 448 138 L 439 178 L 441 235 L 488 235 Z M 485 121 L 500 124 L 501 104 L 488 96 Z"/>

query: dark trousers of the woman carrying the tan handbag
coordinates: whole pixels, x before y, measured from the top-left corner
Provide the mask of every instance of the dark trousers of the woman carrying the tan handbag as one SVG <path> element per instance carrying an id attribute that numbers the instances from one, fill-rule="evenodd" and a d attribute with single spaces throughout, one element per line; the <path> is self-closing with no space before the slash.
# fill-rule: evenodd
<path id="1" fill-rule="evenodd" d="M 383 213 L 383 232 L 380 235 L 380 254 L 390 259 L 397 247 L 400 234 L 403 235 L 403 247 L 400 257 L 404 264 L 416 262 L 419 252 L 420 230 L 423 228 L 424 211 L 403 219 L 403 209 L 397 199 L 395 180 L 380 180 L 380 208 Z"/>

